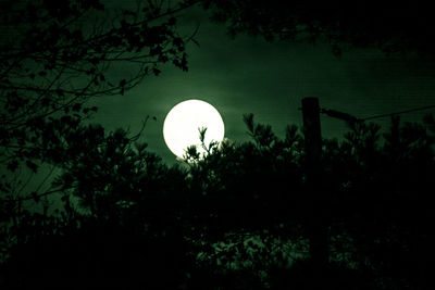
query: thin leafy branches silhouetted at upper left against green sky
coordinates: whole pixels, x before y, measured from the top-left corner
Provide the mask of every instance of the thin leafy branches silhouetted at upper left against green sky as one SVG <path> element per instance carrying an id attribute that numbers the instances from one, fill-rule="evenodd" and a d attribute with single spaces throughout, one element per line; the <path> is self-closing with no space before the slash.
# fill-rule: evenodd
<path id="1" fill-rule="evenodd" d="M 165 63 L 187 71 L 185 43 L 191 37 L 178 34 L 176 16 L 192 2 L 163 2 L 114 9 L 98 0 L 1 1 L 2 201 L 55 190 L 29 191 L 26 180 L 77 153 L 64 147 L 97 112 L 89 99 L 124 94 L 158 76 Z"/>

